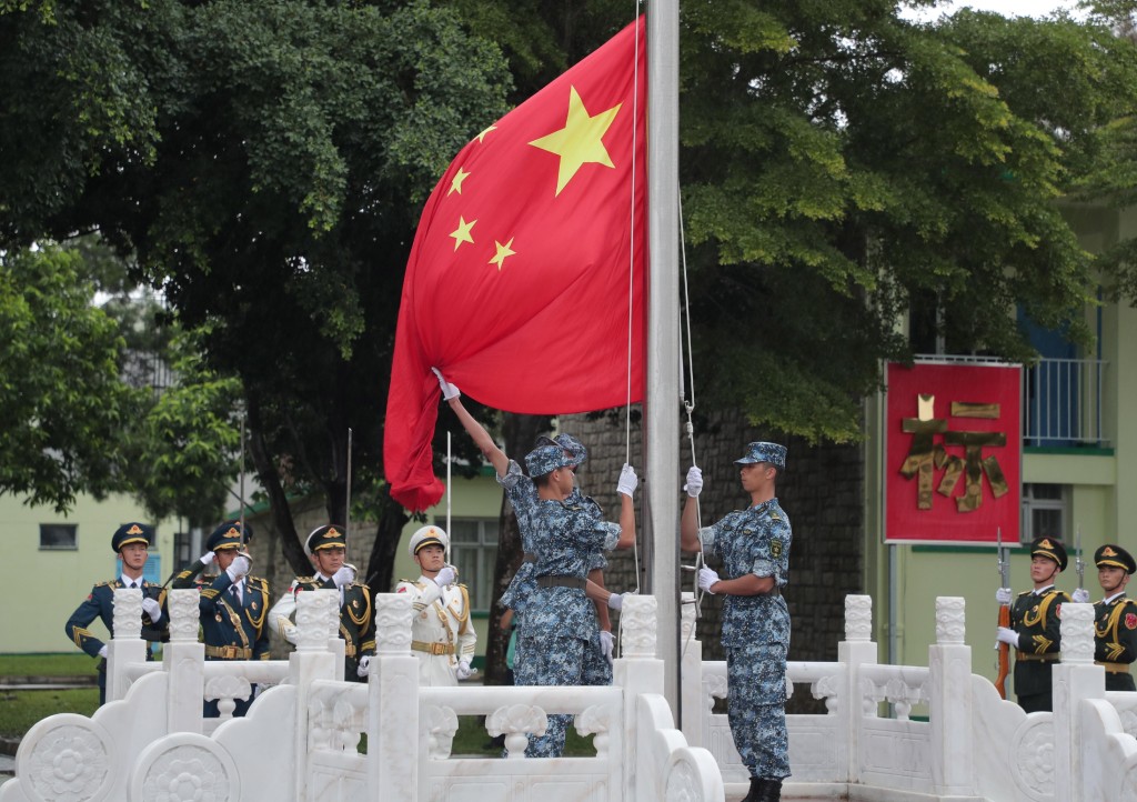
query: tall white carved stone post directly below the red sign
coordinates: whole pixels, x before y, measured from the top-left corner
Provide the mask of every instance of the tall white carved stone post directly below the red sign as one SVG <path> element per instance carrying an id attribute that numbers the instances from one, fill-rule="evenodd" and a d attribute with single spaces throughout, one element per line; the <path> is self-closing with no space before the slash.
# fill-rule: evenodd
<path id="1" fill-rule="evenodd" d="M 928 647 L 931 776 L 937 794 L 973 793 L 971 647 L 961 596 L 936 598 L 936 643 Z"/>

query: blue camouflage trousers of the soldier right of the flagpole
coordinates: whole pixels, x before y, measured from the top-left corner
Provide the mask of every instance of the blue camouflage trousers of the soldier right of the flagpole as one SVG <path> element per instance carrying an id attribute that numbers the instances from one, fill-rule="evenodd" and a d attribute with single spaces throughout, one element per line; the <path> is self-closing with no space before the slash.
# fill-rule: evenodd
<path id="1" fill-rule="evenodd" d="M 786 647 L 747 644 L 727 650 L 727 716 L 735 747 L 752 777 L 789 777 L 786 731 Z"/>

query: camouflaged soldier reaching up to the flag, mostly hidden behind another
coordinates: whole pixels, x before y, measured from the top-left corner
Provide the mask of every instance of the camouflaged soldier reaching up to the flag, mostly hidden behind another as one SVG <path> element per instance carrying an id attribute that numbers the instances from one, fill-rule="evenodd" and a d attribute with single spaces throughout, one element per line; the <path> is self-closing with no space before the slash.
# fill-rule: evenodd
<path id="1" fill-rule="evenodd" d="M 537 563 L 537 552 L 539 544 L 533 538 L 531 518 L 537 509 L 538 494 L 533 480 L 526 477 L 514 460 L 505 455 L 489 432 L 475 421 L 465 406 L 462 404 L 462 392 L 457 387 L 447 382 L 438 370 L 434 373 L 439 378 L 442 388 L 442 396 L 454 410 L 463 427 L 470 433 L 474 444 L 481 449 L 485 458 L 497 471 L 497 481 L 505 490 L 514 513 L 517 515 L 517 528 L 521 531 L 522 557 L 521 568 L 514 574 L 509 587 L 501 596 L 501 604 L 514 612 L 514 626 L 517 629 L 517 646 L 514 654 L 514 675 L 517 684 L 524 685 L 521 678 L 528 677 L 525 669 L 524 647 L 522 645 L 525 622 L 525 609 L 536 588 L 533 568 Z M 588 449 L 580 440 L 571 435 L 557 435 L 554 438 L 538 438 L 538 447 L 558 446 L 564 449 L 568 466 L 575 471 L 576 466 L 588 458 Z M 600 505 L 590 497 L 581 494 L 575 486 L 568 497 L 568 502 L 584 507 L 597 521 L 604 518 Z M 595 553 L 589 564 L 587 595 L 595 603 L 597 617 L 596 638 L 592 647 L 586 651 L 586 681 L 584 685 L 611 685 L 612 684 L 612 654 L 613 637 L 612 623 L 608 618 L 608 609 L 619 610 L 623 603 L 623 596 L 608 592 L 604 587 L 604 569 L 607 561 L 599 552 Z"/>

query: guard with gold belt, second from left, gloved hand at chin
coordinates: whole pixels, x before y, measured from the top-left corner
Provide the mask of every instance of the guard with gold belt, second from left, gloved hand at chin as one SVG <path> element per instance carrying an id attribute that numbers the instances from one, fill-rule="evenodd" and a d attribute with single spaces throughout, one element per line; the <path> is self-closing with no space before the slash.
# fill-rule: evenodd
<path id="1" fill-rule="evenodd" d="M 206 553 L 174 578 L 175 588 L 198 587 L 201 597 L 198 611 L 201 619 L 206 660 L 268 660 L 268 581 L 250 577 L 250 561 L 244 546 L 252 539 L 252 527 L 240 521 L 222 523 L 206 540 Z M 211 563 L 217 563 L 217 578 L 209 584 L 198 574 Z M 254 688 L 255 692 L 255 688 Z M 254 694 L 255 695 L 255 694 Z M 234 700 L 233 716 L 244 716 L 252 704 L 248 698 Z M 217 718 L 217 701 L 205 703 L 206 718 Z"/>

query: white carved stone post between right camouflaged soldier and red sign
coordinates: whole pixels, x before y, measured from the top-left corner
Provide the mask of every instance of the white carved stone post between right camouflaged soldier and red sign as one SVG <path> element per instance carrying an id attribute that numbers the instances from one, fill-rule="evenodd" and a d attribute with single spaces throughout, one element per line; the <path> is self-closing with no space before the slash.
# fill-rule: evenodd
<path id="1" fill-rule="evenodd" d="M 875 706 L 866 711 L 862 704 L 861 667 L 877 663 L 877 644 L 872 640 L 872 596 L 845 597 L 845 640 L 837 644 L 837 660 L 845 663 L 845 688 L 837 704 L 841 718 L 838 733 L 844 743 L 837 744 L 836 776 L 858 783 L 861 772 L 861 731 L 866 714 L 875 716 Z"/>

